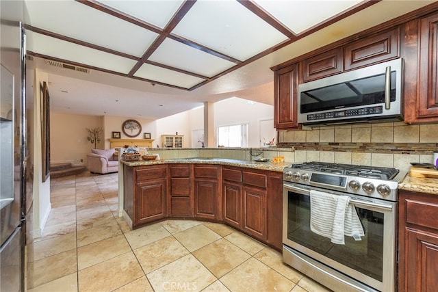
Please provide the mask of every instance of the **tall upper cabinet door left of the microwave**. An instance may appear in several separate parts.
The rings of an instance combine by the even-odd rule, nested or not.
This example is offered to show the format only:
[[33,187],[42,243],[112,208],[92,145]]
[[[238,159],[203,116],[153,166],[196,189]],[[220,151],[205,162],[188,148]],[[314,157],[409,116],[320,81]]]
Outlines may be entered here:
[[298,64],[274,72],[274,127],[300,129],[297,117]]

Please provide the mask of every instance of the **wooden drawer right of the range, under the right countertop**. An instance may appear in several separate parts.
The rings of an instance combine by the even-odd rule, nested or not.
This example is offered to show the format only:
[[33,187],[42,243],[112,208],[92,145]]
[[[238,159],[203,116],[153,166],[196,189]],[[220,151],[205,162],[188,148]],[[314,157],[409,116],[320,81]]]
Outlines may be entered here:
[[406,200],[406,222],[438,229],[438,204]]

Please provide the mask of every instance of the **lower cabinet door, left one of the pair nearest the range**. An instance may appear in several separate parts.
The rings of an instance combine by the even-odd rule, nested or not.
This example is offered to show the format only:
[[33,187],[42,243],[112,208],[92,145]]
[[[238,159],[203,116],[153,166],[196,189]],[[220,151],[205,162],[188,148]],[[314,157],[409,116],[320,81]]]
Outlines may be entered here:
[[224,184],[224,222],[231,226],[240,228],[241,205],[242,205],[242,186],[235,183],[225,182]]

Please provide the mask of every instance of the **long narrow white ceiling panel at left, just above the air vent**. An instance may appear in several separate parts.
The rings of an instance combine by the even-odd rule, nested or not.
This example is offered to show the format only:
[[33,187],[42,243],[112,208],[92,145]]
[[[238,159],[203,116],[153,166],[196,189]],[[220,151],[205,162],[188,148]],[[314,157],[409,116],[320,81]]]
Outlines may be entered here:
[[127,74],[136,61],[29,31],[34,53]]

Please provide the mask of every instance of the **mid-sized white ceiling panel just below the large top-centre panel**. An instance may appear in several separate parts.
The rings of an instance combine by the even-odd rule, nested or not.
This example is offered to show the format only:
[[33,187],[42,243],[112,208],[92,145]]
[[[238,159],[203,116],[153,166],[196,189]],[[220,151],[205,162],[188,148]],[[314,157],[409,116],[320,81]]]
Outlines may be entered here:
[[149,57],[149,60],[206,77],[213,77],[235,66],[233,62],[215,57],[170,38],[164,40],[151,57]]

